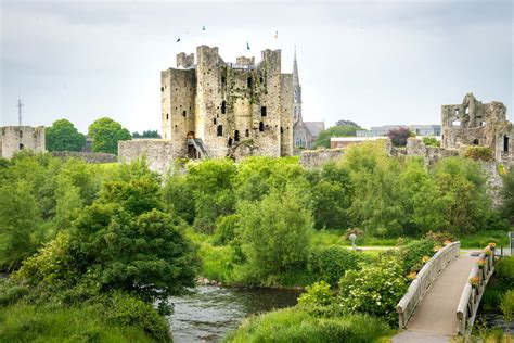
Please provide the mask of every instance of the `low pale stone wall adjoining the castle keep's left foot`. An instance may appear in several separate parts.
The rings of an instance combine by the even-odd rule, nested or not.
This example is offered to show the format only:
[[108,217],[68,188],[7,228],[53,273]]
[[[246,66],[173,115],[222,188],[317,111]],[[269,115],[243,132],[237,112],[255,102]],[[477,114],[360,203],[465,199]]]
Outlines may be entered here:
[[131,162],[146,158],[150,169],[159,174],[166,173],[177,158],[174,144],[164,139],[132,139],[118,142],[118,160]]

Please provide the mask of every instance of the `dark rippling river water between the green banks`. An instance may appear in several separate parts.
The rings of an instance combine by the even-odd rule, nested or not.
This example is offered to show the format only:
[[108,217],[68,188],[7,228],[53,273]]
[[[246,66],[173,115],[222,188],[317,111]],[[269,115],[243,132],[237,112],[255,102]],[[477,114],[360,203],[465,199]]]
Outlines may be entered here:
[[296,305],[298,291],[198,285],[171,297],[174,342],[219,342],[247,316]]

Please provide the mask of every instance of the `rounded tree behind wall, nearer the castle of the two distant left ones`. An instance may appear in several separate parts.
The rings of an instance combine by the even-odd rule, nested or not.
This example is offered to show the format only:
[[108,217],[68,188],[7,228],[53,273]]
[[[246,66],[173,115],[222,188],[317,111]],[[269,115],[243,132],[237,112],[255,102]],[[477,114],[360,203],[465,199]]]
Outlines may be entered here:
[[94,152],[118,153],[118,141],[130,140],[130,132],[111,118],[103,117],[94,120],[88,130],[88,136],[93,140]]

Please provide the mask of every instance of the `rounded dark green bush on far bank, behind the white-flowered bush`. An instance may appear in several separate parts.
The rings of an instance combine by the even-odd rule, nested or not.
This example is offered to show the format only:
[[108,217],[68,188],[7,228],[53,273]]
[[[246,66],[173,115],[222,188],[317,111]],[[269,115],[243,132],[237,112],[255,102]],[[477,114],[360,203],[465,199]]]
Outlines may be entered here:
[[346,270],[358,269],[360,256],[343,246],[330,246],[314,250],[309,258],[308,268],[317,280],[336,285]]

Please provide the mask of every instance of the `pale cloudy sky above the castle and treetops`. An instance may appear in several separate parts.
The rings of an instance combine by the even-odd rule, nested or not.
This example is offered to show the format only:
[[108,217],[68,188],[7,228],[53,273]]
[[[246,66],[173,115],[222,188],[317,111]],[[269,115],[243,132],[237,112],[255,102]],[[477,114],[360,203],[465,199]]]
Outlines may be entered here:
[[110,116],[160,130],[160,71],[203,43],[226,62],[281,49],[283,73],[296,47],[304,120],[325,126],[440,124],[440,105],[470,91],[513,120],[513,11],[510,0],[0,0],[0,125],[17,125],[23,99],[23,125],[67,118],[87,132]]

